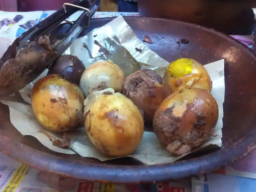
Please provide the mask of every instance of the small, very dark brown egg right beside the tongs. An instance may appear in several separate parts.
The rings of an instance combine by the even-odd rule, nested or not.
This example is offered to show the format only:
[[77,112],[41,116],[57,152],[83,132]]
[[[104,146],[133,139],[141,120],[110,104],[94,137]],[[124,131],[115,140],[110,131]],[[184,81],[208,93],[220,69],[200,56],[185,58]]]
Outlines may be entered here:
[[79,85],[84,70],[84,64],[76,56],[62,55],[50,66],[48,74],[60,74],[68,81]]

